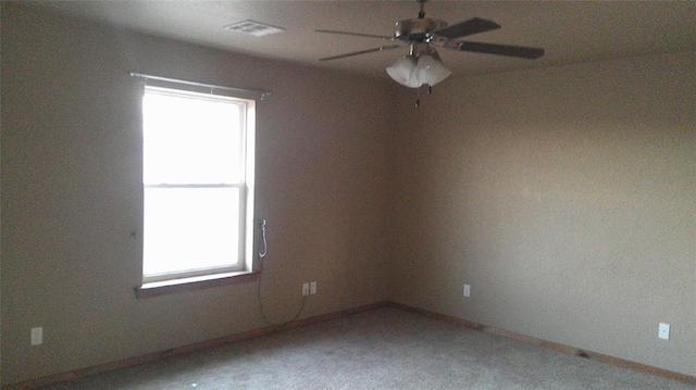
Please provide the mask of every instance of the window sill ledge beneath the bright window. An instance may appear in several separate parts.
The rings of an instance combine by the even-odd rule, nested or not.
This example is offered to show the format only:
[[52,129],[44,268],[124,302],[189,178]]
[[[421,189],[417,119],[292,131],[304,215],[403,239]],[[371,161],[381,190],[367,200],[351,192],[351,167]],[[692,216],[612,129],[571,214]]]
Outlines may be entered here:
[[137,299],[166,295],[184,291],[201,290],[219,286],[246,284],[257,281],[258,272],[226,273],[217,275],[198,276],[175,280],[144,284],[135,288]]

